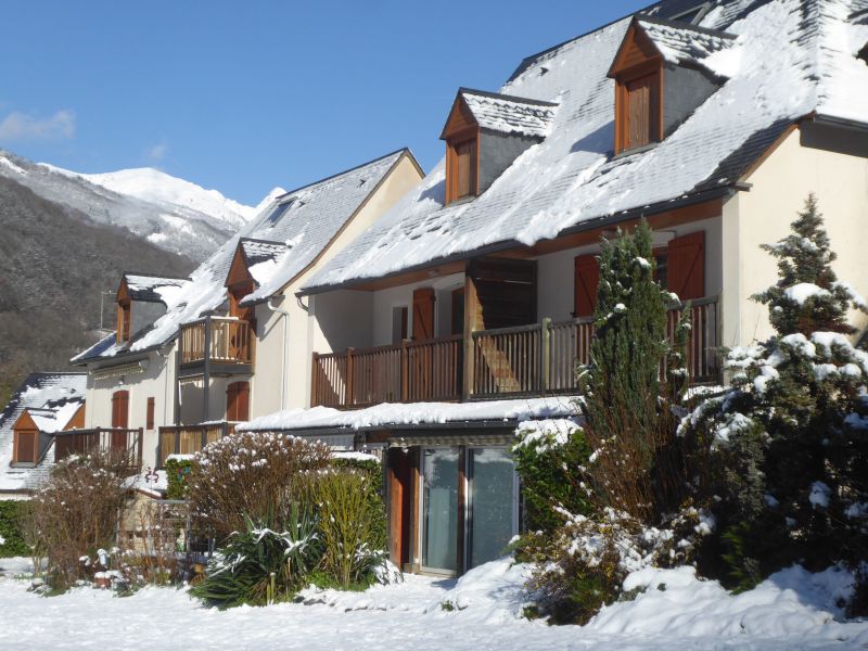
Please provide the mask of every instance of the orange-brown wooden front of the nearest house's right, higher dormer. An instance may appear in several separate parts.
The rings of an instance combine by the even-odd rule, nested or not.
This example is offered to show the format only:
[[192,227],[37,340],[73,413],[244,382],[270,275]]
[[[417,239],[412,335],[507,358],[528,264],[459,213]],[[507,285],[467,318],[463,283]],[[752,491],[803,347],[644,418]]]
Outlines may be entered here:
[[644,146],[663,135],[663,58],[634,23],[615,55],[615,153]]

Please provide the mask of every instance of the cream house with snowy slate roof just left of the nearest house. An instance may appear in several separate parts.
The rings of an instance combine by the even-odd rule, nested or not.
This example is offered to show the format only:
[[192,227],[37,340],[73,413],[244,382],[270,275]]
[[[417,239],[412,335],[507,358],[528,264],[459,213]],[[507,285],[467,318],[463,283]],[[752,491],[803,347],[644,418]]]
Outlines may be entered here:
[[87,369],[87,426],[141,429],[143,463],[162,467],[235,422],[305,406],[295,292],[421,178],[399,150],[277,197],[189,279],[125,273],[116,331],[73,359]]

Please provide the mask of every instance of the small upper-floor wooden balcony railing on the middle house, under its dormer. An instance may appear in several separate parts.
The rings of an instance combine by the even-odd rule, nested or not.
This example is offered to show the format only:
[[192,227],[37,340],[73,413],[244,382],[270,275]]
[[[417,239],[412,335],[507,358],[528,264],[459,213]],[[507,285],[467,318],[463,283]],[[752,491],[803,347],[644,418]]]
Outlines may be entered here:
[[[208,355],[206,356],[206,352]],[[181,326],[181,365],[253,363],[253,329],[247,321],[205,317]]]

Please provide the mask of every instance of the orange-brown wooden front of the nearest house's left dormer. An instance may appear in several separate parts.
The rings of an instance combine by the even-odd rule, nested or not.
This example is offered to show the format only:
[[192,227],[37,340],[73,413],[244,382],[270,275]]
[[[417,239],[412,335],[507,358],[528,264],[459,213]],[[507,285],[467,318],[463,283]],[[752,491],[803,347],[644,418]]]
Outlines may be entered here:
[[441,135],[446,141],[446,203],[478,194],[480,126],[457,97]]

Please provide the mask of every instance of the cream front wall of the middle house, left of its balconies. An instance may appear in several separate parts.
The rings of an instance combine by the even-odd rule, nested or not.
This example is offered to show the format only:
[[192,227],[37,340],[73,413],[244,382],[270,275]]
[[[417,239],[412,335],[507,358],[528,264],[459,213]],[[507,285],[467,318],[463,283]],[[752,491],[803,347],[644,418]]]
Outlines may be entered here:
[[[85,409],[86,427],[112,426],[112,395],[116,391],[129,392],[130,429],[142,427],[144,437],[142,442],[142,463],[151,465],[156,462],[157,429],[162,425],[173,424],[175,418],[175,352],[177,346],[170,343],[164,350],[149,353],[146,368],[137,373],[129,373],[123,378],[106,378],[98,380],[95,372],[108,370],[88,367],[87,403]],[[129,363],[126,360],[118,360]],[[154,429],[146,429],[148,398],[154,398]]]

